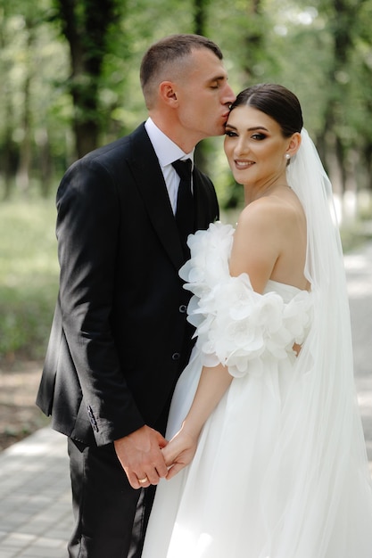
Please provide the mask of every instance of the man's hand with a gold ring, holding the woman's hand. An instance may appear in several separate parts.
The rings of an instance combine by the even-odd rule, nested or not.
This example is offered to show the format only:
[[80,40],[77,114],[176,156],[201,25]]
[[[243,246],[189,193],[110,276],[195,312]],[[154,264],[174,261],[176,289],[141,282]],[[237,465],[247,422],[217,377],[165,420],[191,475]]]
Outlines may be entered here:
[[158,484],[161,477],[167,476],[168,468],[161,453],[167,443],[160,432],[149,426],[114,441],[116,455],[132,488]]

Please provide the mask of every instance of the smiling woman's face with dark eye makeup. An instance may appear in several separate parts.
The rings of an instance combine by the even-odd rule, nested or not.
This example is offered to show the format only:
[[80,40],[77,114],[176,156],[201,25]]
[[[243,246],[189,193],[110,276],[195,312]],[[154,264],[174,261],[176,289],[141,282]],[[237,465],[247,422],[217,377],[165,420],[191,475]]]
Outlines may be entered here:
[[260,187],[285,181],[290,144],[291,138],[264,112],[242,105],[228,116],[224,147],[238,184]]

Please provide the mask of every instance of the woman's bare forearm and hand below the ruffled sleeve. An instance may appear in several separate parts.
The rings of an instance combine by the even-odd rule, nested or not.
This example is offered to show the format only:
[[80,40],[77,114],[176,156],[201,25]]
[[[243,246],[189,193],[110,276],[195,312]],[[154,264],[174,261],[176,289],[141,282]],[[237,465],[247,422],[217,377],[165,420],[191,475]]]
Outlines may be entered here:
[[203,424],[218,405],[232,379],[223,365],[203,367],[193,405],[181,429],[168,446],[162,449],[165,463],[169,467],[168,480],[192,461]]

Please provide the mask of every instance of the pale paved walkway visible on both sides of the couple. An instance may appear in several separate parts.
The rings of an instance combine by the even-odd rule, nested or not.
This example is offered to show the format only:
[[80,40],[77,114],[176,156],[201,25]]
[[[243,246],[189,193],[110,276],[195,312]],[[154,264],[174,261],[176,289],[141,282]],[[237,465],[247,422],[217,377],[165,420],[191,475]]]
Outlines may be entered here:
[[[345,265],[355,377],[372,464],[372,242],[346,256]],[[66,557],[72,522],[68,471],[66,439],[48,428],[0,454],[0,558]]]

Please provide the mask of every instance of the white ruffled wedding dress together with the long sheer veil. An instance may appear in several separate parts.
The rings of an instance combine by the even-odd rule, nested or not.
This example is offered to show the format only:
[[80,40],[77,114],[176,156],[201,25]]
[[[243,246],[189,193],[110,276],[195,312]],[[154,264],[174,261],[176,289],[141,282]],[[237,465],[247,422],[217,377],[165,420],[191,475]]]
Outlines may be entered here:
[[[372,488],[355,394],[332,187],[306,130],[287,167],[305,211],[310,292],[229,275],[232,226],[189,236],[197,340],[172,399],[179,429],[203,365],[234,377],[194,460],[161,480],[142,558],[372,558]],[[293,343],[302,345],[298,355]]]

